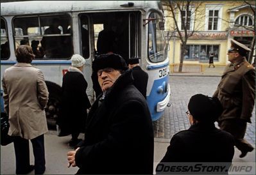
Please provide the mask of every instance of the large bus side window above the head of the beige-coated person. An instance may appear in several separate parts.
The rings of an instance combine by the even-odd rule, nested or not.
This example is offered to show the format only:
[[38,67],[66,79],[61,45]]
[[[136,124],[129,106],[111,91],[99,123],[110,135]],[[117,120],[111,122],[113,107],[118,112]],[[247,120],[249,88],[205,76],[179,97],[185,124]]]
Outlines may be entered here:
[[16,17],[13,26],[15,48],[30,45],[35,59],[69,59],[73,55],[69,15]]

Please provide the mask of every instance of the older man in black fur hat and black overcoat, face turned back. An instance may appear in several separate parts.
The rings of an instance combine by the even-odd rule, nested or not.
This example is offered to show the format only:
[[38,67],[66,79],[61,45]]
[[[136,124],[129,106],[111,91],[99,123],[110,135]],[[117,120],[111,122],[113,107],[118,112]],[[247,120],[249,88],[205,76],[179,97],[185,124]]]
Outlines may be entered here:
[[67,153],[69,164],[77,174],[153,174],[151,116],[132,71],[117,54],[95,61],[103,93],[90,109],[84,141]]

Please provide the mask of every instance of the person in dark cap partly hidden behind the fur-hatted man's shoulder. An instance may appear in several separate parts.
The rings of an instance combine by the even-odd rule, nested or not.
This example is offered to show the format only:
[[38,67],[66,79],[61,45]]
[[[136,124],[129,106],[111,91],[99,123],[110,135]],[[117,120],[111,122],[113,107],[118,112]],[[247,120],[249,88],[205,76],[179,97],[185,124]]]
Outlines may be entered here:
[[137,88],[141,94],[146,98],[147,85],[148,85],[148,73],[144,72],[139,66],[139,57],[132,57],[128,59],[128,66],[132,69],[133,85]]

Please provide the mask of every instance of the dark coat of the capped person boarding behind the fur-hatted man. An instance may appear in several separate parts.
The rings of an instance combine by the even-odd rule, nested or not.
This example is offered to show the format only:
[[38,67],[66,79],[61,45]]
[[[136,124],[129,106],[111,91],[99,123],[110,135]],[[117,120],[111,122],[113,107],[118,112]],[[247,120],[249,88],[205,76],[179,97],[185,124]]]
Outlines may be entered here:
[[144,72],[140,66],[132,68],[133,85],[137,88],[141,94],[146,98],[147,85],[148,85],[148,73]]

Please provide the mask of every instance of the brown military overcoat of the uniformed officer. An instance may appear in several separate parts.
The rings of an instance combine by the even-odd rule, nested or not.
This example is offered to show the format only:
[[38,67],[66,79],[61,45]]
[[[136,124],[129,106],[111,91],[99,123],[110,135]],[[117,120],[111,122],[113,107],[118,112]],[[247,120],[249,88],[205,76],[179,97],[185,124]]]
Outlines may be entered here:
[[252,110],[255,103],[255,69],[244,58],[235,65],[226,66],[213,96],[219,98],[223,113],[219,121],[224,119],[243,119],[251,123]]

